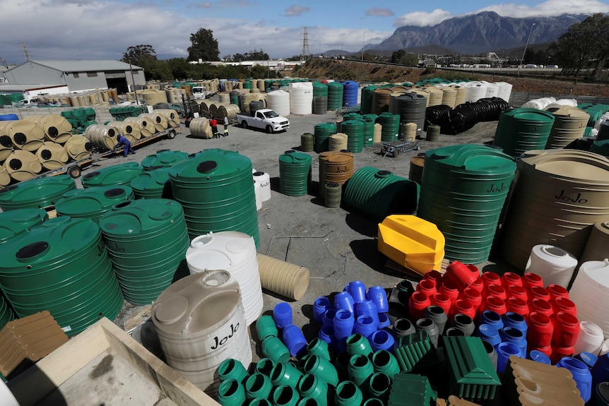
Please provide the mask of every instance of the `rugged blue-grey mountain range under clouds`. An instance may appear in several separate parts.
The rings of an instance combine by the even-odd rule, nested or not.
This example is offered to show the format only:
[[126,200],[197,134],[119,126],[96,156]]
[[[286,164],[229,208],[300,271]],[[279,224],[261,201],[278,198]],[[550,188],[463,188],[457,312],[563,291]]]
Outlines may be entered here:
[[[522,47],[531,35],[530,44],[557,40],[569,26],[581,23],[586,14],[562,14],[555,17],[502,17],[494,11],[454,17],[427,27],[404,25],[379,44],[367,44],[364,50],[396,51],[437,45],[455,54],[480,54],[500,49]],[[535,24],[535,25],[533,25]]]

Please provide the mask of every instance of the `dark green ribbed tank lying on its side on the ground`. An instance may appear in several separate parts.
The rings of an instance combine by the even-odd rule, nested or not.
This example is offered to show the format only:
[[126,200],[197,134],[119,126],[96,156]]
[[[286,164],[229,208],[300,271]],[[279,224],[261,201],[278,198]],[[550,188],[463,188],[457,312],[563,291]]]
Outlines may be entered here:
[[413,214],[417,210],[419,186],[386,170],[362,167],[343,188],[343,203],[373,220],[390,214]]

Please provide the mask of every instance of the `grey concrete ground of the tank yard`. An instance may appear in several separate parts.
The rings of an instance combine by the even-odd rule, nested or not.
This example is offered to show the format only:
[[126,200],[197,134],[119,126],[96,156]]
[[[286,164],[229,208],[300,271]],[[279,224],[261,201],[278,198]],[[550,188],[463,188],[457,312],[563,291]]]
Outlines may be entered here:
[[[216,139],[200,139],[190,136],[189,129],[182,129],[175,139],[161,139],[158,142],[138,148],[136,155],[119,155],[100,160],[83,171],[83,175],[95,169],[117,165],[126,161],[141,162],[147,155],[158,150],[171,149],[196,153],[208,148],[235,150],[249,157],[255,169],[268,173],[271,177],[271,200],[263,203],[258,212],[260,247],[259,253],[278,258],[289,263],[304,266],[310,271],[309,287],[305,297],[290,301],[273,292],[264,292],[264,313],[272,314],[273,307],[280,301],[288,301],[292,306],[294,323],[302,327],[310,340],[317,336],[318,326],[312,322],[312,303],[319,296],[340,292],[350,281],[362,280],[367,287],[381,285],[395,287],[400,280],[410,277],[405,273],[386,268],[386,257],[377,251],[377,223],[343,208],[326,208],[317,197],[319,179],[319,159],[312,155],[312,188],[306,196],[285,196],[278,191],[278,157],[285,150],[300,147],[302,133],[313,133],[316,124],[336,121],[335,112],[325,115],[290,115],[290,129],[283,133],[267,134],[263,131],[230,126],[229,136]],[[386,169],[401,177],[408,177],[410,157],[418,153],[446,145],[463,143],[486,143],[495,135],[497,121],[476,124],[473,129],[456,136],[441,135],[437,142],[420,140],[421,150],[412,150],[398,157],[383,157],[380,145],[365,148],[355,154],[354,170],[365,166]],[[219,126],[220,129],[222,128]],[[480,264],[484,270],[502,272],[509,269],[500,260]],[[508,268],[506,268],[508,267]],[[412,277],[410,277],[412,279]],[[416,280],[416,279],[413,279]],[[141,307],[125,304],[122,313],[114,321],[124,327],[124,322],[138,314]],[[144,312],[146,315],[146,312]],[[139,317],[139,316],[138,316]],[[131,320],[132,322],[133,320]],[[253,327],[254,325],[252,325]],[[256,342],[252,328],[252,350],[254,362],[261,357],[260,346]]]

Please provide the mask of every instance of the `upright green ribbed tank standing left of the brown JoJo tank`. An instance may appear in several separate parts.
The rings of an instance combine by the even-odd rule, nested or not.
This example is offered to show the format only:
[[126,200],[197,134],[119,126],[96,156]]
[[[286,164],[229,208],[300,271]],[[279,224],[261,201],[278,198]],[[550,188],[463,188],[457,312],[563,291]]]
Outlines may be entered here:
[[279,190],[287,196],[304,196],[311,183],[311,155],[287,150],[279,155]]

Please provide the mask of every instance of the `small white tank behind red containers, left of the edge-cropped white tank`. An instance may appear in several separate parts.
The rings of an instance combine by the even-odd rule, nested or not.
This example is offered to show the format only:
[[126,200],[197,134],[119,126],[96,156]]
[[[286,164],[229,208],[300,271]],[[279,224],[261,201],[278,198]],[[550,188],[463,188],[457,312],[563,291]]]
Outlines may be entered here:
[[526,272],[536,273],[543,279],[543,285],[569,286],[577,258],[557,246],[538,244],[531,249],[526,263]]

